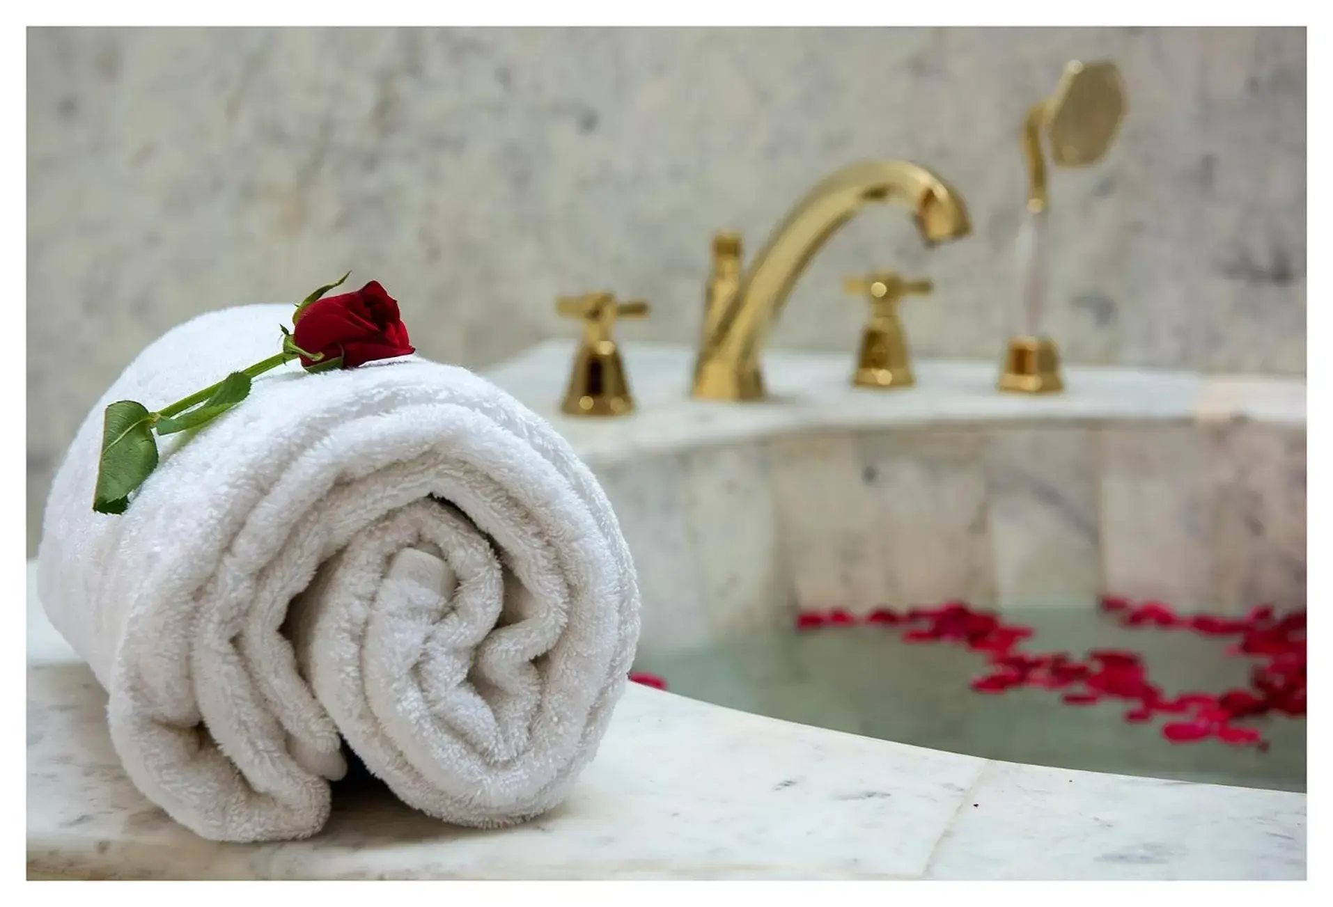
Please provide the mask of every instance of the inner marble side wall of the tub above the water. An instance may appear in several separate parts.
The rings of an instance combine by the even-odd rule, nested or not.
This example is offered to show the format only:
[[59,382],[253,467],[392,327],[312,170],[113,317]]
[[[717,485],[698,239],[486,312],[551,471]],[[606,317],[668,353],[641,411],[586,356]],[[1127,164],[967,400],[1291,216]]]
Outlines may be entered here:
[[640,651],[797,610],[1305,607],[1305,428],[1257,421],[798,432],[595,466],[640,569]]

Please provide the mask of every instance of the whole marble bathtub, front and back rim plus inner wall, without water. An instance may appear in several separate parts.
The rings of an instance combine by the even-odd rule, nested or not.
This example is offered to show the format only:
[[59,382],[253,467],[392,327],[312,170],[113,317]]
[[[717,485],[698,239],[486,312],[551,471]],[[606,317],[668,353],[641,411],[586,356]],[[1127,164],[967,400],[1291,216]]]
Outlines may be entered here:
[[[846,357],[777,352],[774,400],[717,405],[686,398],[685,348],[631,345],[640,412],[592,421],[556,412],[572,353],[488,377],[605,483],[643,651],[804,606],[1304,603],[1304,382],[1069,369],[1068,394],[1025,398],[993,392],[990,364],[921,362],[917,389],[881,394],[846,385]],[[31,586],[29,878],[1305,876],[1304,794],[996,762],[633,685],[573,796],[527,826],[449,828],[357,783],[315,839],[204,842],[120,771],[105,697]]]

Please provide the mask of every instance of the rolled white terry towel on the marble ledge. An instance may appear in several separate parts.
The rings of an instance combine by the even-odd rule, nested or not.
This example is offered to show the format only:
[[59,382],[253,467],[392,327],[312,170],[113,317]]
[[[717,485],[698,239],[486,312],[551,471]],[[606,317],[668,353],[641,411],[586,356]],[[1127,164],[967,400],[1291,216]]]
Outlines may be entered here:
[[499,388],[417,356],[291,364],[159,440],[124,514],[93,513],[105,405],[160,409],[257,362],[291,314],[225,309],[159,338],[52,485],[39,593],[109,694],[125,771],[217,840],[319,831],[340,738],[447,822],[549,810],[624,690],[639,590],[592,473]]

